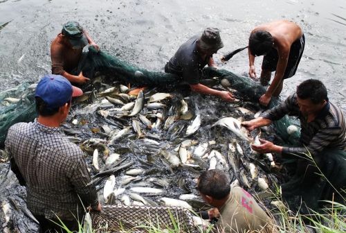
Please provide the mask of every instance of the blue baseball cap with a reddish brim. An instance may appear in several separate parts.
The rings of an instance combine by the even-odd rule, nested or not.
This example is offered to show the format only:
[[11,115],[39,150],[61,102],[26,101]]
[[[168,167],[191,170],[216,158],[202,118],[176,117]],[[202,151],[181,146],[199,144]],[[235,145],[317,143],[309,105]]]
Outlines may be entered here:
[[82,96],[80,88],[60,75],[46,74],[37,84],[35,97],[42,98],[49,108],[62,107],[72,97]]

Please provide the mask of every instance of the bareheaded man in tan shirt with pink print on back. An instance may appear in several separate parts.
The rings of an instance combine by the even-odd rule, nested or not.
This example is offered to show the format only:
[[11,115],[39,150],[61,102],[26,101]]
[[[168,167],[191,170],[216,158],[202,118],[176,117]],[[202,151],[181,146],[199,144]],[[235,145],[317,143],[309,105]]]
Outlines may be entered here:
[[241,187],[231,188],[223,171],[212,169],[201,173],[197,189],[203,200],[216,208],[208,214],[210,218],[219,218],[215,225],[217,232],[274,232],[273,221],[251,194]]

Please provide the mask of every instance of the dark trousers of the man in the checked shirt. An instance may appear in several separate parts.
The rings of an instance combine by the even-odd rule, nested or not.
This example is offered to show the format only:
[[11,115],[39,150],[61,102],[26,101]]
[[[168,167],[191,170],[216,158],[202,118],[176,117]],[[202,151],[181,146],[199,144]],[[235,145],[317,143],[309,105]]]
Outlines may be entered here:
[[[71,232],[78,232],[78,221],[66,221],[61,220],[62,223],[58,219],[47,219],[42,215],[34,215],[37,221],[39,221],[39,233],[55,233],[55,232],[66,232],[64,228],[60,227],[62,223],[66,225],[67,229]],[[54,222],[54,223],[53,223]],[[82,224],[82,223],[81,223]]]

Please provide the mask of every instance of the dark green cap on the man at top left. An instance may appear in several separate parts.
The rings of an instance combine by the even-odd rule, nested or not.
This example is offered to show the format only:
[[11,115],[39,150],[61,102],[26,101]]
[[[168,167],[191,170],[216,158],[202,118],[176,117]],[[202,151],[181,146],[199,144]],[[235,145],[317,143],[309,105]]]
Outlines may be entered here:
[[80,26],[76,21],[68,21],[64,24],[62,27],[62,35],[69,39],[73,49],[82,49],[86,44],[88,44],[82,26]]

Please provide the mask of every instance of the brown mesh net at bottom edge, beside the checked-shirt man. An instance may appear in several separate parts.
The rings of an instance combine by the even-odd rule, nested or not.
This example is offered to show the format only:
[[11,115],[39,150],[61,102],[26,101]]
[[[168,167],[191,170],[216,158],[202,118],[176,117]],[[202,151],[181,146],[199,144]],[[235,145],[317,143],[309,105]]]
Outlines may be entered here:
[[181,207],[107,205],[91,219],[95,232],[197,232],[192,214]]

